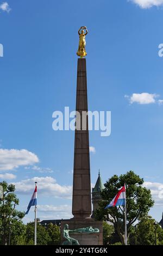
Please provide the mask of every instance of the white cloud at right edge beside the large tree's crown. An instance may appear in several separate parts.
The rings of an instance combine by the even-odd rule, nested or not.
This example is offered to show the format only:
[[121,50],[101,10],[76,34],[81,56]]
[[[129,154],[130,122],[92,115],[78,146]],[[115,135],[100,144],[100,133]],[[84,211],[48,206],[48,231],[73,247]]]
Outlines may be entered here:
[[159,182],[146,181],[143,186],[151,190],[155,205],[163,205],[163,184]]

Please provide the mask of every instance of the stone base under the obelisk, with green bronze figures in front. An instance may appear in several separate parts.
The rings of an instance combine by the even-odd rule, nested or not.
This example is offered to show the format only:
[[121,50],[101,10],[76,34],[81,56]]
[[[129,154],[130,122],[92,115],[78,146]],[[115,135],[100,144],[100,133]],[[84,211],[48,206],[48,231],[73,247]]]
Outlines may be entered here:
[[70,237],[78,240],[79,245],[103,245],[103,222],[102,221],[95,221],[92,218],[85,218],[83,220],[77,220],[72,218],[68,221],[61,221],[61,244],[64,240],[62,237],[62,230],[64,229],[64,225],[68,224],[69,229],[78,229],[78,228],[98,228],[99,232],[97,233],[77,233],[77,232],[70,232]]

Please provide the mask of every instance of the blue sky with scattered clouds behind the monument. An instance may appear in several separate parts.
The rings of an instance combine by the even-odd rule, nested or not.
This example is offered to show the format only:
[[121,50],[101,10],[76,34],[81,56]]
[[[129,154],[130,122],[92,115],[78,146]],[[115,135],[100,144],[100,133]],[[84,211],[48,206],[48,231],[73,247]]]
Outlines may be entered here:
[[[52,113],[75,108],[78,29],[87,26],[89,109],[111,111],[111,136],[90,131],[96,150],[90,154],[91,182],[98,168],[103,182],[134,170],[151,188],[156,204],[150,214],[160,221],[163,1],[3,3],[0,179],[15,183],[19,209],[26,210],[37,180],[38,217],[71,216],[74,132],[53,131]],[[24,222],[33,217],[31,210]]]

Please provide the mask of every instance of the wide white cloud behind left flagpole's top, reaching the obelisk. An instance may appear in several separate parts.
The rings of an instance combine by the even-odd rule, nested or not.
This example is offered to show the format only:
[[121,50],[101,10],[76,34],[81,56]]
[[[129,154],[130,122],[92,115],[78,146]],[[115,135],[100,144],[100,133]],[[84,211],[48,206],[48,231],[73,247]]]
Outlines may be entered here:
[[31,194],[34,190],[34,182],[37,181],[38,193],[45,196],[57,198],[72,198],[72,186],[59,185],[51,176],[34,177],[32,179],[21,180],[13,183],[16,193]]

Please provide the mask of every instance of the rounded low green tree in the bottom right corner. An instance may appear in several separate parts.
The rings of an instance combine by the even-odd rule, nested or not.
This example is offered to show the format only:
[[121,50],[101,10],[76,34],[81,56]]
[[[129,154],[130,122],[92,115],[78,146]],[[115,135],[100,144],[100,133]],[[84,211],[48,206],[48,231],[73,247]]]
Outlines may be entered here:
[[[156,233],[155,233],[156,230]],[[163,245],[163,230],[151,216],[143,217],[130,233],[130,245]]]

